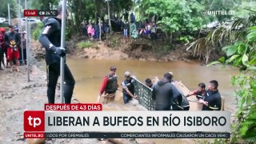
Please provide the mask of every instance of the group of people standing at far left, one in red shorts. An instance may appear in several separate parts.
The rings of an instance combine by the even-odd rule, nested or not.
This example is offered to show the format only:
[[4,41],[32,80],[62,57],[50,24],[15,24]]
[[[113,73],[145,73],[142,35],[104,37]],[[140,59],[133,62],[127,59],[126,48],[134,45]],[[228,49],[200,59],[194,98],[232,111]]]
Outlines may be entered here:
[[[18,26],[10,25],[8,32],[4,28],[0,28],[0,70],[3,70],[3,64],[6,68],[10,68],[10,71],[19,71],[22,38],[24,38],[24,33],[18,33]],[[4,62],[4,54],[6,54],[6,64]],[[13,64],[15,67],[13,67]]]

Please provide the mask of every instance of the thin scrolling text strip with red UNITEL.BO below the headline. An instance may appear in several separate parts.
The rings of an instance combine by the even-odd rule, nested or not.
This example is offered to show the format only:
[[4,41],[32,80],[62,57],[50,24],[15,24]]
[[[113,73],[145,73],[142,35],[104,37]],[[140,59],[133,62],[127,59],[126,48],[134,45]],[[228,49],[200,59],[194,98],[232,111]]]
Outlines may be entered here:
[[154,133],[24,133],[24,138],[230,138],[230,133],[154,132]]

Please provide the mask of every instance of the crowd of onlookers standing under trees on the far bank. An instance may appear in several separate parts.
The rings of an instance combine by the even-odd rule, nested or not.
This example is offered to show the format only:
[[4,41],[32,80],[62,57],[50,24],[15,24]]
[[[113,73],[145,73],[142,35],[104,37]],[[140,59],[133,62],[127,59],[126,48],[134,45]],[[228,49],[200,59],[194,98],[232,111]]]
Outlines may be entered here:
[[[130,19],[129,19],[130,18]],[[146,20],[141,22],[136,22],[135,16],[133,13],[129,14],[126,12],[121,17],[114,16],[110,18],[110,23],[112,30],[115,32],[121,32],[123,38],[128,38],[131,34],[131,38],[157,38],[157,26],[155,24],[156,20]],[[90,39],[98,39],[100,31],[103,34],[108,34],[110,30],[110,25],[108,20],[103,20],[99,26],[98,22],[82,22],[81,25],[82,33],[85,36],[88,36]]]

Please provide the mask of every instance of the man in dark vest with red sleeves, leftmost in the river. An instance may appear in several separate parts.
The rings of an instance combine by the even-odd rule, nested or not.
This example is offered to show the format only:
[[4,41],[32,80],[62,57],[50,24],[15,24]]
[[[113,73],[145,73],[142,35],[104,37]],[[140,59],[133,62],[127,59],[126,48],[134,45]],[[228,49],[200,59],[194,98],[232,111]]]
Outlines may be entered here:
[[103,79],[102,87],[99,92],[100,96],[102,96],[104,92],[105,94],[115,94],[118,90],[118,76],[116,74],[116,70],[117,68],[115,66],[110,67],[110,73],[106,74]]

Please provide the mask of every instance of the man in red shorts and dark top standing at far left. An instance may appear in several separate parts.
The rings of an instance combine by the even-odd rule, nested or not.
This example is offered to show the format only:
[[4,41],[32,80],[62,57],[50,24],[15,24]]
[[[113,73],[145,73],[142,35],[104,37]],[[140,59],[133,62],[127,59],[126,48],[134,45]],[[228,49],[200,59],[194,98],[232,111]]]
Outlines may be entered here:
[[[16,70],[18,70],[19,65],[19,48],[21,45],[21,37],[20,35],[14,30],[14,26],[9,26],[9,32],[5,35],[5,44],[7,46],[7,65],[10,63],[10,67],[12,67],[13,60],[15,60]],[[12,71],[12,69],[10,70]]]

